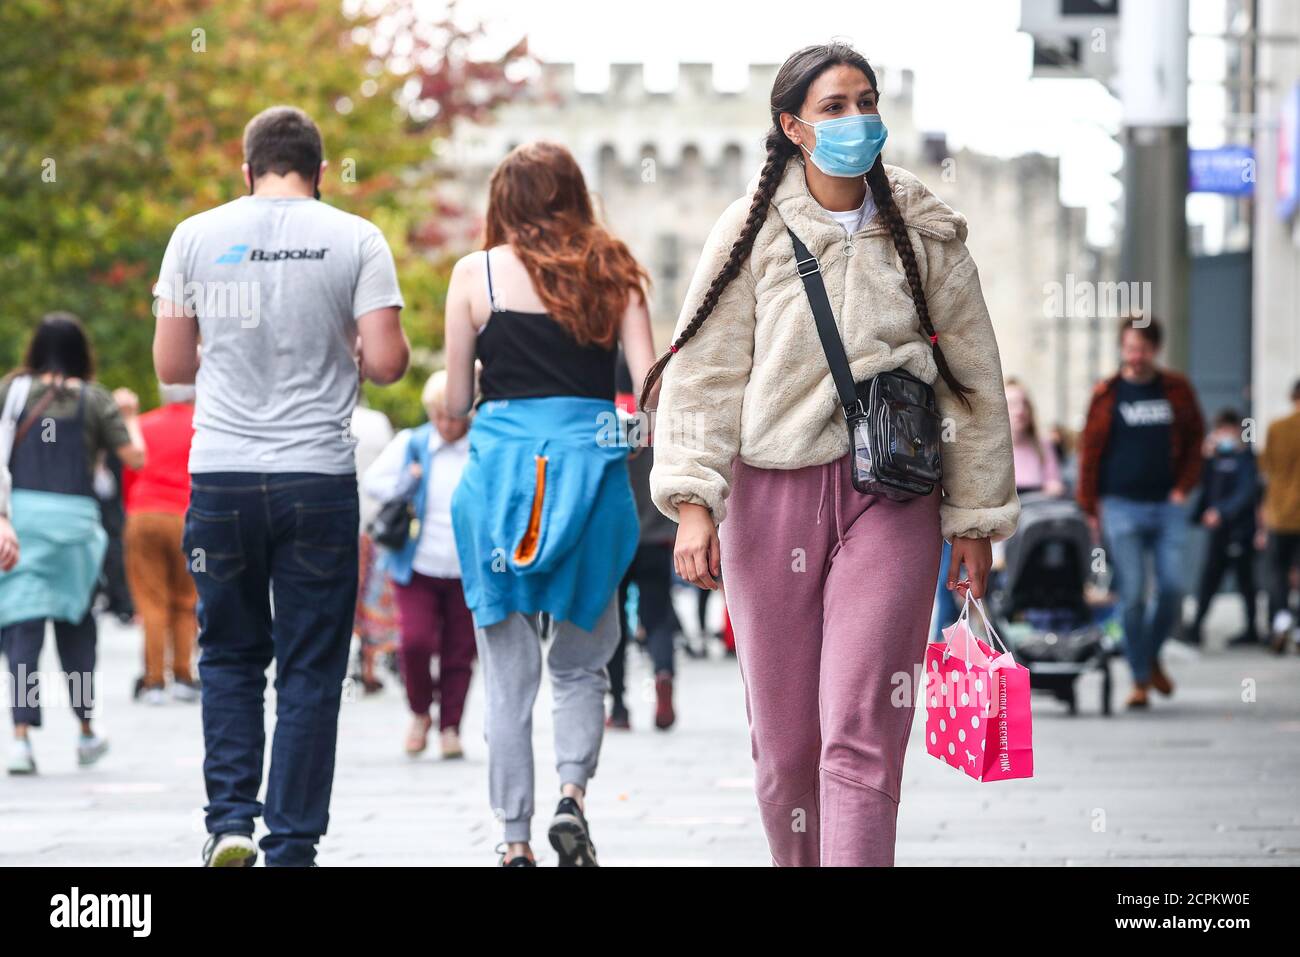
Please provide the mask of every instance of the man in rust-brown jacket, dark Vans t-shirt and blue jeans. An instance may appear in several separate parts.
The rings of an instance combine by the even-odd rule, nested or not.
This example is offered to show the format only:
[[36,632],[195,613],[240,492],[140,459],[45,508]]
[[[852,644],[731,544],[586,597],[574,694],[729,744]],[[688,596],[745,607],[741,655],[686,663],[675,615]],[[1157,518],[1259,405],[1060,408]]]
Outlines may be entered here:
[[[1161,326],[1134,317],[1119,330],[1121,367],[1097,385],[1079,447],[1079,506],[1104,534],[1119,581],[1124,655],[1134,674],[1128,707],[1150,688],[1173,694],[1160,646],[1182,607],[1187,495],[1201,472],[1205,423],[1191,384],[1156,365]],[[1147,558],[1156,605],[1147,607]]]

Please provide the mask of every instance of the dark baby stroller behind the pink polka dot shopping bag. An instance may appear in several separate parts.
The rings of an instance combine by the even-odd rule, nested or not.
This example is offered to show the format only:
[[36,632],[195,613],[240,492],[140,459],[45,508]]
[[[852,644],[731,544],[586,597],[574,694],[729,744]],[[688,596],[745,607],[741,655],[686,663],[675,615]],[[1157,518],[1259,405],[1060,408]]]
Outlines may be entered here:
[[1030,670],[1030,687],[1078,714],[1075,683],[1101,671],[1101,713],[1110,714],[1110,658],[1118,642],[1088,605],[1092,536],[1074,502],[1026,494],[1006,541],[1006,567],[992,607],[998,628]]

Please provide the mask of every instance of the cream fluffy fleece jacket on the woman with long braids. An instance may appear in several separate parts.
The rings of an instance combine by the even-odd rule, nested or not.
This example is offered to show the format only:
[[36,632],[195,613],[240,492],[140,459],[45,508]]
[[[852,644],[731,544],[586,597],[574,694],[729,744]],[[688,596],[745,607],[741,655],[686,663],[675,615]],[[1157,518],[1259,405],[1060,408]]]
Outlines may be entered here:
[[[945,538],[1006,538],[1019,499],[997,341],[966,218],[911,173],[885,166],[916,252],[931,321],[948,365],[974,389],[967,410],[939,378],[902,264],[876,213],[853,237],[809,192],[792,159],[740,276],[696,335],[668,361],[655,417],[654,503],[672,519],[680,502],[727,515],[732,459],[758,468],[802,468],[849,451],[844,415],[794,268],[786,224],[822,264],[854,380],[898,367],[935,386],[944,417]],[[686,293],[677,332],[690,321],[749,213],[758,177],[714,226]]]

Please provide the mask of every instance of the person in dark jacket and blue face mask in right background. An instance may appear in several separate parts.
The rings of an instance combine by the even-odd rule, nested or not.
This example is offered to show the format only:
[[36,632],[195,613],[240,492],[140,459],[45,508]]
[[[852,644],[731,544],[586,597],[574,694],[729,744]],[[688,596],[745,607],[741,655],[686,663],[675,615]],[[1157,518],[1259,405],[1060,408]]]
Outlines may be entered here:
[[1245,631],[1231,644],[1254,645],[1260,640],[1254,610],[1254,506],[1258,495],[1260,473],[1254,452],[1242,442],[1242,415],[1226,408],[1214,419],[1214,430],[1206,439],[1204,481],[1192,512],[1192,519],[1209,531],[1209,542],[1196,620],[1187,636],[1190,644],[1201,644],[1201,625],[1230,567],[1245,601]]

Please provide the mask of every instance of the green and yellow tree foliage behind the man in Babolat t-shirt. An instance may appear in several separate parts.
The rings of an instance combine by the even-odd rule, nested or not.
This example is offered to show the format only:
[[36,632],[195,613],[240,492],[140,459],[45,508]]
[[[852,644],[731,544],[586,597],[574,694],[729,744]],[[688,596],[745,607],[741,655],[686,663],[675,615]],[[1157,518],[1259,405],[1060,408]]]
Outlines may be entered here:
[[[291,103],[320,124],[322,198],[387,237],[416,361],[368,390],[402,424],[442,347],[450,257],[432,148],[517,95],[523,43],[469,56],[477,27],[411,0],[0,3],[0,367],[35,320],[86,321],[100,378],[155,397],[151,290],[172,229],[244,191],[240,135]],[[354,10],[352,8],[358,8]]]

